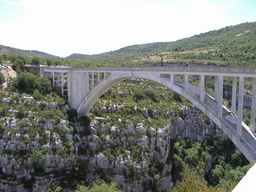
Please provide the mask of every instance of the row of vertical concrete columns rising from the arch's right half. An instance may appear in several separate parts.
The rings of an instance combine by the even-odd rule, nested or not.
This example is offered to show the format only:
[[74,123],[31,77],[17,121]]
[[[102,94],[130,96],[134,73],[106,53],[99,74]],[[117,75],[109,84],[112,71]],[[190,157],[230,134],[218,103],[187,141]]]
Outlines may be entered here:
[[[178,74],[177,74],[178,75]],[[164,75],[163,75],[164,76]],[[184,75],[184,89],[189,91],[189,75]],[[215,76],[214,81],[214,100],[218,103],[217,114],[222,117],[222,103],[223,103],[223,78],[224,76]],[[175,74],[170,75],[170,81],[175,83]],[[244,77],[239,77],[239,93],[238,93],[238,112],[236,114],[236,83],[237,77],[232,77],[232,102],[231,113],[237,118],[236,132],[241,136],[242,134],[242,115],[243,115],[243,101],[244,101]],[[205,76],[199,75],[200,101],[204,102],[206,93],[205,90]],[[251,115],[250,115],[250,130],[254,133],[256,116],[256,78],[253,78],[253,91],[251,95]]]

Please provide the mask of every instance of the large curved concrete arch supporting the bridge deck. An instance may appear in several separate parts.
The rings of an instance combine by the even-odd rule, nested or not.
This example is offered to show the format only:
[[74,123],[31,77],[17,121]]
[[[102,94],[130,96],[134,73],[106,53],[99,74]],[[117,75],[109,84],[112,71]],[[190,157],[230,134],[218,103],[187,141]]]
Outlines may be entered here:
[[[242,135],[239,136],[236,133],[237,119],[226,108],[222,108],[223,115],[219,117],[217,114],[218,103],[210,96],[205,96],[205,102],[200,101],[200,90],[194,85],[189,84],[189,91],[186,91],[184,83],[174,82],[172,83],[168,78],[162,78],[156,75],[143,73],[143,72],[129,72],[129,73],[117,73],[103,79],[99,84],[93,87],[84,96],[78,107],[76,108],[81,115],[87,115],[97,101],[97,99],[110,87],[128,78],[144,78],[151,81],[155,81],[162,84],[184,98],[193,103],[203,113],[205,113],[221,130],[232,140],[232,142],[238,147],[238,149],[245,155],[245,157],[251,162],[256,160],[256,135],[250,131],[250,128],[242,123]],[[178,79],[177,79],[178,80]],[[180,79],[179,79],[180,80]]]

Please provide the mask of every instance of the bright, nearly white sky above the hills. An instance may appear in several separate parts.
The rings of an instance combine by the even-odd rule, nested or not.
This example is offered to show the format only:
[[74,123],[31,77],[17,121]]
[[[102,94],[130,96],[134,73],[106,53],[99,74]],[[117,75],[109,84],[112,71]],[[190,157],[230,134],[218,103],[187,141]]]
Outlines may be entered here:
[[256,0],[0,0],[0,44],[66,57],[256,21]]

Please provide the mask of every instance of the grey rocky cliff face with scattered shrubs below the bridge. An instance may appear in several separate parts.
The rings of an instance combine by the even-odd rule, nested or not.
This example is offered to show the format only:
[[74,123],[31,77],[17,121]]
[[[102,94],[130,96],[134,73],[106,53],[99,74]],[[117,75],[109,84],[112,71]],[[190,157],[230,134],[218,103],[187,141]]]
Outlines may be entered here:
[[[111,113],[122,106],[115,107],[94,111]],[[173,187],[172,165],[167,159],[172,138],[225,137],[197,108],[179,107],[179,111],[179,116],[173,111],[153,111],[152,115],[164,113],[172,122],[161,128],[146,126],[145,120],[116,126],[110,117],[94,117],[88,126],[64,119],[4,117],[0,119],[0,190],[44,191],[57,183],[69,191],[103,178],[127,192],[153,191],[154,187],[169,191]],[[143,112],[148,113],[146,109]],[[46,154],[39,169],[30,155],[33,150]],[[152,171],[153,166],[157,172]]]

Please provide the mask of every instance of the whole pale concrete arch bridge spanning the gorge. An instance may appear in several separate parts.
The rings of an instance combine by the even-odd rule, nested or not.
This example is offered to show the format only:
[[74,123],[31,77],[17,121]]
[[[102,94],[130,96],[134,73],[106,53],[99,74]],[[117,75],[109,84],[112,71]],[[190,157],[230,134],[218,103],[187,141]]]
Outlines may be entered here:
[[[67,93],[69,105],[79,115],[87,115],[97,99],[128,78],[145,78],[162,84],[198,107],[232,140],[251,162],[256,160],[256,68],[246,67],[36,67],[26,66],[38,75],[52,79],[53,87]],[[184,80],[175,75],[184,75]],[[189,75],[199,75],[199,88],[189,84]],[[215,76],[214,98],[205,93],[205,76]],[[223,77],[233,78],[231,111],[222,105]],[[236,82],[239,78],[236,113]],[[250,127],[242,122],[244,78],[253,78]]]

